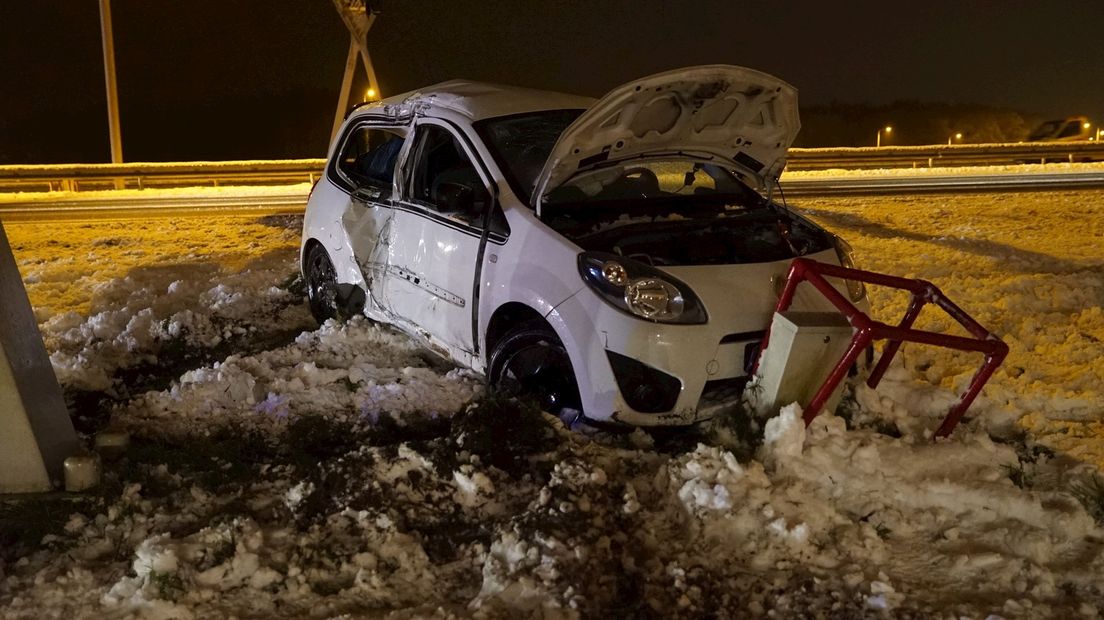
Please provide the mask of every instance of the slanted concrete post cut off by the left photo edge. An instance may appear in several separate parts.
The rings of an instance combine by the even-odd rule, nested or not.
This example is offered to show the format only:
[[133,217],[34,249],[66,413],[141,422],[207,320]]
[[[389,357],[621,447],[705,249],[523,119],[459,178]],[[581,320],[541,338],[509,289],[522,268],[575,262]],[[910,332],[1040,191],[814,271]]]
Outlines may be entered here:
[[49,491],[81,449],[0,224],[0,493]]

